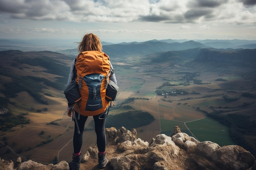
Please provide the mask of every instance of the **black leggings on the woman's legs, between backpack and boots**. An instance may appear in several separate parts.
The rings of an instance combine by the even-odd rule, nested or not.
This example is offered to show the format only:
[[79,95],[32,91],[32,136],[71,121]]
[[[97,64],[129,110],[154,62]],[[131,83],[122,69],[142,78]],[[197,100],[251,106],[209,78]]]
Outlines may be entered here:
[[[106,135],[105,135],[105,122],[106,117],[108,116],[109,107],[106,111],[100,115],[93,116],[94,125],[95,125],[95,132],[97,135],[97,146],[99,152],[104,152],[106,150]],[[78,113],[75,112],[76,118],[78,117]],[[80,134],[78,134],[78,130],[75,124],[74,129],[74,137],[73,137],[73,147],[74,153],[79,153],[81,151],[81,147],[83,144],[83,130],[85,126],[85,121],[87,120],[88,116],[80,115],[80,119],[77,120]]]

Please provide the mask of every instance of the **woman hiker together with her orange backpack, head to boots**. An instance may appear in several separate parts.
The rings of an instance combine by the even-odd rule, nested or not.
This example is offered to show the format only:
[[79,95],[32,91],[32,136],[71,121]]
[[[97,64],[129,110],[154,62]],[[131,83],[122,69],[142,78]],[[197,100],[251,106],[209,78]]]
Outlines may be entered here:
[[[108,158],[106,157],[105,122],[110,102],[105,100],[105,96],[101,97],[101,95],[104,92],[106,95],[104,84],[107,84],[108,79],[115,82],[115,84],[117,84],[117,80],[112,64],[109,61],[109,57],[102,52],[101,41],[96,35],[93,33],[84,35],[83,40],[79,43],[78,51],[80,54],[72,62],[67,83],[68,85],[70,82],[76,81],[76,83],[79,84],[79,91],[81,94],[81,102],[79,102],[78,105],[70,106],[70,104],[68,104],[67,107],[67,115],[77,118],[75,119],[77,122],[75,121],[73,137],[74,153],[72,155],[72,161],[69,163],[69,167],[70,170],[79,170],[80,168],[85,121],[88,116],[93,116],[99,150],[99,168],[102,169],[105,168],[108,163]],[[92,79],[98,81],[98,87],[89,87],[88,84],[90,84]],[[101,85],[101,83],[103,85]],[[99,88],[98,90],[100,94],[99,92],[96,92],[97,88]],[[90,93],[90,90],[92,93]],[[93,97],[93,102],[96,101],[99,102],[99,104],[94,104],[92,101],[88,104],[90,102],[90,97]]]

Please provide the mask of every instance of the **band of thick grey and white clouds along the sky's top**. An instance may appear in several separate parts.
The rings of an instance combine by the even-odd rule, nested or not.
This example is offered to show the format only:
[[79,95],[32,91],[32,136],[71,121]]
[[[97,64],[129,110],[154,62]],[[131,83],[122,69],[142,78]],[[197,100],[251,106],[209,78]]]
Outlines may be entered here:
[[29,20],[181,24],[256,22],[256,11],[248,11],[245,7],[255,5],[255,0],[0,0],[0,4],[0,13]]

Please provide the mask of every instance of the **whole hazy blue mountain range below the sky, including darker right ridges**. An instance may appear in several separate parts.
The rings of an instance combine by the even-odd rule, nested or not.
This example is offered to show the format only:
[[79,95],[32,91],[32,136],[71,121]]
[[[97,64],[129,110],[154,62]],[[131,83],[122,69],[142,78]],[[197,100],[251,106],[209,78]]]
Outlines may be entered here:
[[[65,55],[78,55],[75,40],[5,40],[0,39],[0,51],[40,51],[49,50]],[[150,56],[151,62],[171,59],[175,64],[184,60],[255,62],[256,40],[150,40],[145,42],[122,42],[113,44],[102,42],[103,51],[112,60],[131,56]]]

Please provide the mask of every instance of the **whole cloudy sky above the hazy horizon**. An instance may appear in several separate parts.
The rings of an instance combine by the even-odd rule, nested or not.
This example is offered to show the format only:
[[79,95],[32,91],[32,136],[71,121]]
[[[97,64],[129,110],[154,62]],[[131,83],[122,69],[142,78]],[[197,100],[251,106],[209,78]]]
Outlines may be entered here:
[[256,0],[0,0],[0,39],[256,40]]

